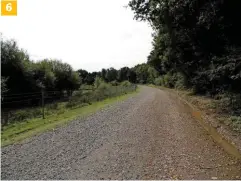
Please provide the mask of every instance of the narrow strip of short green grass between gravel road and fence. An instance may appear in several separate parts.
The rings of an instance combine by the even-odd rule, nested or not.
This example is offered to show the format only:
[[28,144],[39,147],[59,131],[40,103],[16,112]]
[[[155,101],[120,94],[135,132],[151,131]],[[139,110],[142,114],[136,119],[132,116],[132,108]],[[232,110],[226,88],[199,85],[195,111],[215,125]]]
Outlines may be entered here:
[[1,146],[17,143],[31,136],[40,134],[44,131],[54,129],[58,126],[64,125],[76,118],[82,118],[88,116],[107,105],[113,104],[118,101],[122,101],[130,97],[131,95],[139,92],[137,91],[128,93],[122,96],[108,98],[100,102],[94,102],[91,105],[71,109],[63,110],[61,114],[54,114],[47,116],[46,119],[35,118],[29,119],[24,122],[16,122],[2,128],[1,133]]

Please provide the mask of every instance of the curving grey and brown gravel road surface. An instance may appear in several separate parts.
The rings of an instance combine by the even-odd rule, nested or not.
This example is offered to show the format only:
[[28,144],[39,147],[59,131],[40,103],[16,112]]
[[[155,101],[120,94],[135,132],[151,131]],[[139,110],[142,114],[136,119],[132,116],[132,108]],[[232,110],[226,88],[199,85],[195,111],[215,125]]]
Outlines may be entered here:
[[184,105],[142,87],[131,98],[2,148],[2,179],[241,179]]

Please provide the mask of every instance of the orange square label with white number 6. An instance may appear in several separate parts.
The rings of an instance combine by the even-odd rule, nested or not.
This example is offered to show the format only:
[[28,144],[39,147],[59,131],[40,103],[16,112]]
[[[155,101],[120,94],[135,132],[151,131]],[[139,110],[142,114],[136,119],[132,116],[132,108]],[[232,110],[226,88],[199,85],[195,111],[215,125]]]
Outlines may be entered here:
[[17,16],[17,0],[2,0],[1,1],[2,16]]

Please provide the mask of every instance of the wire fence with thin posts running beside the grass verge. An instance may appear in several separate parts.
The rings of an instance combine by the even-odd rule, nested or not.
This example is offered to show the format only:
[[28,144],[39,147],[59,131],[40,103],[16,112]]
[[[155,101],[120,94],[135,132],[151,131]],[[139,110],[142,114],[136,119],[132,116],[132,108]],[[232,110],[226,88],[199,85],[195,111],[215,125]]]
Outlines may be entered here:
[[[128,87],[111,86],[107,89],[82,88],[78,91],[41,91],[22,94],[3,94],[1,97],[1,124],[29,118],[45,118],[46,115],[78,107],[82,104],[125,94],[136,90],[136,85]],[[64,103],[58,110],[59,103]]]

